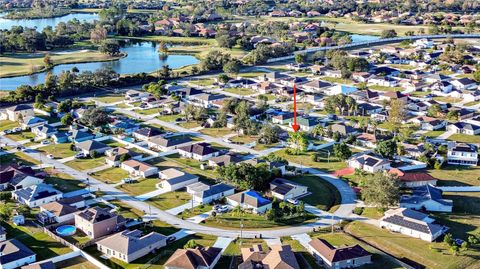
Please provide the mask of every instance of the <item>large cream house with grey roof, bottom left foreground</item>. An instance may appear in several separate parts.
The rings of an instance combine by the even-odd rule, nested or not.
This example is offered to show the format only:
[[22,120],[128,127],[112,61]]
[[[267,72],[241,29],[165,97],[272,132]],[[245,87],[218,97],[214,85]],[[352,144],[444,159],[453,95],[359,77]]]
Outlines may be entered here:
[[125,230],[108,236],[96,244],[98,251],[107,257],[130,263],[166,246],[167,237],[156,232],[144,235],[140,230]]

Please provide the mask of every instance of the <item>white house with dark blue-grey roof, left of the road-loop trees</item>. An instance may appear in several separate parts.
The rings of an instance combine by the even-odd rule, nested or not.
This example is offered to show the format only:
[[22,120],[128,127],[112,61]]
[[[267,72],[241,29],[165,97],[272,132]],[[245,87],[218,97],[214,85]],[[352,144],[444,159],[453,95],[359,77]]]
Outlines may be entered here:
[[235,188],[224,183],[209,186],[205,183],[198,182],[188,185],[187,192],[192,195],[195,203],[208,204],[213,201],[218,201],[223,197],[233,195]]

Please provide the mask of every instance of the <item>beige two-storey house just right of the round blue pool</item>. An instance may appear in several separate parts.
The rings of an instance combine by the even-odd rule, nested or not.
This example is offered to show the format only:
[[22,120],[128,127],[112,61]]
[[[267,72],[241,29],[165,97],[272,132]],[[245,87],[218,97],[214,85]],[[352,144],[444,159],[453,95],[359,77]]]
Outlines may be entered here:
[[125,226],[125,219],[106,208],[92,207],[75,214],[75,227],[95,239],[109,235]]

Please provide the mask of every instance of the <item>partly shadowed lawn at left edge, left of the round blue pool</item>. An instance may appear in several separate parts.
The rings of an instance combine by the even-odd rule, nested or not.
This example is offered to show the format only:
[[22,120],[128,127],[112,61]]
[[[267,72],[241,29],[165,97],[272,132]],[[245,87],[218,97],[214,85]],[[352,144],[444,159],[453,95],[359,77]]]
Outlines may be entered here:
[[6,229],[7,239],[15,238],[37,254],[37,260],[50,259],[72,250],[43,233],[43,229],[33,226],[15,226],[2,222]]

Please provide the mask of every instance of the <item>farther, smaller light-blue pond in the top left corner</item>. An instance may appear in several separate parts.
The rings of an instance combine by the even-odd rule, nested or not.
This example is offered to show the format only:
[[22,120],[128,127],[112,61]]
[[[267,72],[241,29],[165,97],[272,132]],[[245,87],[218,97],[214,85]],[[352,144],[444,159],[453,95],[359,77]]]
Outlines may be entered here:
[[12,26],[22,26],[28,28],[37,28],[37,31],[41,32],[43,28],[47,26],[51,26],[55,28],[58,23],[60,22],[67,22],[73,19],[77,19],[79,21],[94,21],[98,20],[98,14],[96,13],[71,13],[62,17],[55,17],[55,18],[44,18],[44,19],[22,19],[22,20],[10,20],[5,19],[6,13],[0,13],[0,28],[1,29],[10,29]]

